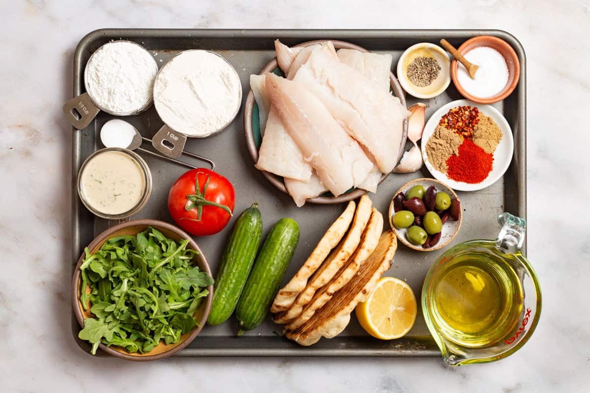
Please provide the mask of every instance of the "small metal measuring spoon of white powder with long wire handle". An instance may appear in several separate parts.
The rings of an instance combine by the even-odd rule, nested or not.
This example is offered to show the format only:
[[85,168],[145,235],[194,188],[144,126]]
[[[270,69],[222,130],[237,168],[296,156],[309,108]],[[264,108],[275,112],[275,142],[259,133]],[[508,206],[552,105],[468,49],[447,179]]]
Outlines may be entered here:
[[[104,126],[100,129],[100,141],[103,143],[104,147],[119,147],[126,148],[127,150],[139,150],[142,153],[149,154],[150,156],[163,158],[166,161],[181,164],[191,169],[198,168],[192,166],[189,163],[185,163],[184,161],[162,156],[162,154],[154,153],[153,151],[142,148],[141,146],[143,141],[152,143],[152,140],[142,137],[139,131],[137,131],[137,128],[133,127],[132,124],[127,123],[127,121],[124,120],[112,119],[104,123]],[[215,170],[215,163],[212,160],[209,160],[209,158],[199,156],[198,154],[191,153],[190,151],[186,150],[183,150],[182,153],[198,160],[205,161],[209,164],[209,166],[211,166],[211,170]]]

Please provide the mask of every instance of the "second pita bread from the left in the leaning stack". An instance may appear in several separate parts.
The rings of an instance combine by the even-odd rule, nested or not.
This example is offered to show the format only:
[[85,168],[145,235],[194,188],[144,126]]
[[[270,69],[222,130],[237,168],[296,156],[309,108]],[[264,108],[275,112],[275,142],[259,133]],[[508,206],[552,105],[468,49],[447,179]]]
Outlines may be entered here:
[[363,195],[360,197],[358,206],[356,206],[355,219],[352,220],[352,225],[346,237],[332,250],[322,263],[322,266],[313,273],[312,278],[307,282],[305,289],[299,293],[293,305],[287,311],[278,313],[274,318],[274,322],[287,323],[299,316],[303,311],[303,307],[312,301],[316,290],[326,285],[340,270],[360,243],[360,236],[369,222],[369,217],[371,217],[372,205],[373,203],[368,196]]

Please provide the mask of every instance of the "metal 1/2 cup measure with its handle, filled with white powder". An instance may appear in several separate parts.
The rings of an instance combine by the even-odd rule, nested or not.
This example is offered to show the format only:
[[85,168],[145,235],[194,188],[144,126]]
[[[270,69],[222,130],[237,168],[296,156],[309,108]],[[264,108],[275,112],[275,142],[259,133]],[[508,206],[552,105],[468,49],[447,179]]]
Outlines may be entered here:
[[139,114],[153,102],[156,74],[158,64],[146,48],[126,40],[107,42],[90,56],[84,68],[86,93],[64,104],[65,117],[81,130],[100,111]]

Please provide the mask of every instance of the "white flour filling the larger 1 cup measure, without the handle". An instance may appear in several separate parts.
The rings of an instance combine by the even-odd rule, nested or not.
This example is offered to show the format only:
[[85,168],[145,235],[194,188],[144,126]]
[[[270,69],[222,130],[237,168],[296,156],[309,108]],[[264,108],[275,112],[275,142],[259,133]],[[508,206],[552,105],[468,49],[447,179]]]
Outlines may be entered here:
[[240,77],[224,58],[182,52],[160,70],[153,102],[166,126],[186,136],[207,136],[227,126],[241,101]]

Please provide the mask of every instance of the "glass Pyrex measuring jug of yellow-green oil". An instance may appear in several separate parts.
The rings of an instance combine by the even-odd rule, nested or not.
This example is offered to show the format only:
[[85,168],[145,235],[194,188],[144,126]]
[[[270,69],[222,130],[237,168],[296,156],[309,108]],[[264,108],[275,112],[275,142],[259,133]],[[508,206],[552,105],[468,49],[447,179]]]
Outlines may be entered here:
[[539,322],[541,290],[522,254],[526,221],[498,216],[496,240],[471,240],[441,255],[422,286],[428,329],[452,366],[512,355]]

